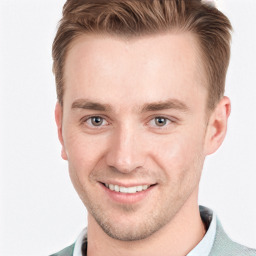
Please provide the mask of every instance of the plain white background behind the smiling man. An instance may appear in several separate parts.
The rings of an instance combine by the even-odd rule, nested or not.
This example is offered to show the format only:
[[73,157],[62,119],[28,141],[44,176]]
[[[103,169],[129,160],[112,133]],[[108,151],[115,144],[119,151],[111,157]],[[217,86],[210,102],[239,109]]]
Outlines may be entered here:
[[[71,244],[86,211],[60,158],[51,44],[63,0],[0,2],[0,255],[48,255]],[[210,156],[200,200],[227,233],[256,248],[256,1],[219,0],[233,27],[226,140]]]

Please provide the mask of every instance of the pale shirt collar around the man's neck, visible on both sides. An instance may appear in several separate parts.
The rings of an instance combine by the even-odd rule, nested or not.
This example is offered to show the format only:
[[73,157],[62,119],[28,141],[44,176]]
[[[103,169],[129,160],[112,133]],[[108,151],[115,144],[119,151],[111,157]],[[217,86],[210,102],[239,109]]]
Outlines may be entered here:
[[[213,242],[216,235],[216,214],[203,206],[199,207],[202,221],[207,227],[207,232],[199,244],[189,253],[187,256],[207,256],[213,246]],[[79,234],[74,247],[73,256],[82,256],[82,245],[84,238],[87,236],[87,228]]]

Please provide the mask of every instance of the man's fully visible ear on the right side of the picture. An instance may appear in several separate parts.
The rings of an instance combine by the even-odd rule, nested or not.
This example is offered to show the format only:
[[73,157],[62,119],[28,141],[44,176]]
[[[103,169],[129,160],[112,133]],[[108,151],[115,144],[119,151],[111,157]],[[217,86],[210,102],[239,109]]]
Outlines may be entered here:
[[230,99],[224,96],[211,113],[205,137],[205,154],[214,153],[222,144],[226,132],[228,117],[231,111]]

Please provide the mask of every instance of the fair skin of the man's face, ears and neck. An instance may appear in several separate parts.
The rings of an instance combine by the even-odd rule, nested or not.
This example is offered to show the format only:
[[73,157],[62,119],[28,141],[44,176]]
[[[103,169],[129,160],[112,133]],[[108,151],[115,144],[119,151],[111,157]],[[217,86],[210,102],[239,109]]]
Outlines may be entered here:
[[[84,35],[69,50],[55,115],[88,210],[89,256],[186,255],[203,238],[199,181],[225,137],[230,101],[207,111],[199,52],[188,32]],[[152,186],[118,201],[102,183]]]

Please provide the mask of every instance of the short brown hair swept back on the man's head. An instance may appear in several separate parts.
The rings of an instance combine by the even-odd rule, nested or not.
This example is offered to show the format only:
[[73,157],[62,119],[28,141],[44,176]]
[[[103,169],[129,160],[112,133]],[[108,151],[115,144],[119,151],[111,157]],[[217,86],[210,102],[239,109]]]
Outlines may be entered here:
[[65,58],[77,37],[88,33],[139,37],[174,29],[191,31],[198,39],[208,107],[213,109],[225,90],[232,26],[222,12],[200,0],[67,0],[52,49],[58,101],[63,104]]

